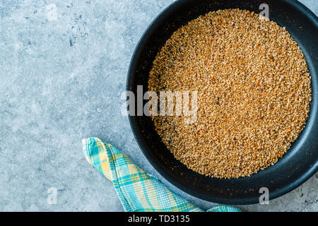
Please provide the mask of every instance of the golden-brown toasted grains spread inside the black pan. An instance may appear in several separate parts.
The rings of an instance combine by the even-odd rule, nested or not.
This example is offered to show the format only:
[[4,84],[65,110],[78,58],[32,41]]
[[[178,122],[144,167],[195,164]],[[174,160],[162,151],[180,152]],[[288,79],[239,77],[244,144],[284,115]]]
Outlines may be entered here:
[[215,11],[173,33],[148,81],[155,92],[196,90],[196,122],[152,119],[163,143],[189,169],[245,177],[273,165],[298,138],[310,111],[310,80],[285,28],[251,11]]

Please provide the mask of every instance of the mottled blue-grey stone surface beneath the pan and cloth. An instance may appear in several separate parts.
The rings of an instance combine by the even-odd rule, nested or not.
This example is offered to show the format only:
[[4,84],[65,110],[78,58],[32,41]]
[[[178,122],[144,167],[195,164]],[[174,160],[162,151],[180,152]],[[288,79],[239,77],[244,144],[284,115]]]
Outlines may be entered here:
[[[318,14],[317,0],[301,2]],[[122,211],[112,184],[83,156],[81,138],[90,136],[112,143],[201,208],[216,205],[160,177],[120,113],[134,48],[171,3],[0,0],[1,211]],[[50,187],[58,190],[57,205],[47,203]],[[315,174],[269,205],[242,210],[317,211],[317,187]]]

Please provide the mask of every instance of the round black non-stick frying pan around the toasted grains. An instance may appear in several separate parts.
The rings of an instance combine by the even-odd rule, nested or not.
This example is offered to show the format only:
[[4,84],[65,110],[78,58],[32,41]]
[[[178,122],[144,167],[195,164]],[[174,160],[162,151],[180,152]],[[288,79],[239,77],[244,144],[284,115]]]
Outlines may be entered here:
[[276,165],[252,177],[217,179],[187,169],[173,157],[156,133],[150,117],[129,116],[131,128],[143,154],[169,182],[193,196],[224,204],[259,202],[259,189],[267,187],[269,198],[282,196],[300,186],[318,169],[318,18],[298,1],[287,0],[183,0],[163,11],[148,27],[131,59],[127,90],[147,91],[148,74],[158,50],[177,28],[209,11],[240,8],[259,13],[269,5],[269,18],[285,27],[305,54],[312,76],[310,117],[297,141]]

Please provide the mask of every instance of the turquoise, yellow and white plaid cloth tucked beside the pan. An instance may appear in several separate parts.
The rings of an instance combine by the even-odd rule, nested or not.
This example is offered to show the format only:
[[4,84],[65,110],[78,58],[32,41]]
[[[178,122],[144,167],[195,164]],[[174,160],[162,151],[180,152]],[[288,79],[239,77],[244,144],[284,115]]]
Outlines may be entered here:
[[[107,177],[117,191],[124,210],[129,212],[203,212],[167,189],[158,179],[146,174],[129,157],[98,138],[83,140],[86,160]],[[208,212],[240,212],[230,206],[218,206]]]

